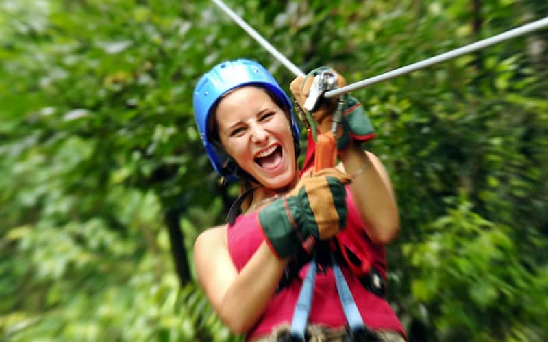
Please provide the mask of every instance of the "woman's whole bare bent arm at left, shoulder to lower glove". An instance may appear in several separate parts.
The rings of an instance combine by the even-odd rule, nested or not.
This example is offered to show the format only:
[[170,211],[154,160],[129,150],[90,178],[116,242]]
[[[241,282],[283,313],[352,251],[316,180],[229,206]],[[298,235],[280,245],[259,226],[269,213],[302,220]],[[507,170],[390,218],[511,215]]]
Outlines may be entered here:
[[227,226],[204,231],[194,245],[198,280],[217,315],[232,332],[247,332],[265,310],[284,272],[280,260],[262,242],[238,273],[227,244]]

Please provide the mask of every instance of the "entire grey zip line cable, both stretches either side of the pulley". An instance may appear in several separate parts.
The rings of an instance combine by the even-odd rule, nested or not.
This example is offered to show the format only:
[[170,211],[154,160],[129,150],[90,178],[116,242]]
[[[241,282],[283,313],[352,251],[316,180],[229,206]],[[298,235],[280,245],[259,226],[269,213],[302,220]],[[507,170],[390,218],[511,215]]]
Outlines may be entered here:
[[[295,66],[295,64],[293,64],[290,60],[288,60],[286,56],[282,55],[282,53],[280,53],[275,47],[273,47],[272,44],[270,44],[268,41],[262,38],[262,36],[255,29],[253,29],[253,27],[249,26],[242,18],[240,18],[238,14],[230,10],[230,8],[228,8],[227,5],[223,3],[223,1],[221,0],[212,0],[212,1],[217,6],[219,6],[219,8],[221,8],[221,10],[223,10],[230,18],[232,18],[232,20],[234,20],[236,24],[240,25],[240,27],[242,27],[242,29],[244,29],[244,31],[246,31],[247,34],[249,34],[249,36],[254,38],[259,44],[261,44],[262,47],[266,49],[266,51],[269,51],[273,55],[273,57],[275,57],[279,62],[284,64],[284,66],[286,66],[286,68],[288,68],[293,74],[295,74],[295,76],[306,75],[305,73],[303,73],[301,69],[299,69],[297,66]],[[462,55],[466,55],[466,53],[472,53],[480,49],[485,49],[486,47],[490,47],[491,45],[498,44],[499,42],[503,42],[504,40],[509,40],[511,38],[515,38],[518,36],[523,36],[524,34],[528,34],[532,31],[536,31],[544,27],[548,27],[548,17],[539,19],[538,21],[533,21],[532,23],[521,25],[519,27],[516,27],[515,29],[510,29],[509,31],[503,32],[501,34],[497,34],[490,38],[479,40],[478,42],[474,42],[472,44],[464,45],[464,47],[460,47],[458,49],[454,49],[446,53],[436,55],[434,57],[429,57],[426,60],[409,64],[407,66],[402,66],[392,71],[388,71],[386,73],[382,73],[377,76],[369,77],[362,81],[351,83],[341,88],[329,90],[328,92],[325,92],[323,96],[325,98],[332,98],[335,96],[346,94],[347,92],[351,92],[353,90],[366,88],[376,83],[388,81],[388,79],[393,79],[401,75],[412,73],[413,71],[416,71],[416,70],[427,68],[428,66],[433,66],[434,64],[438,64],[441,62],[445,62],[447,60],[451,60],[456,57],[460,57]]]

